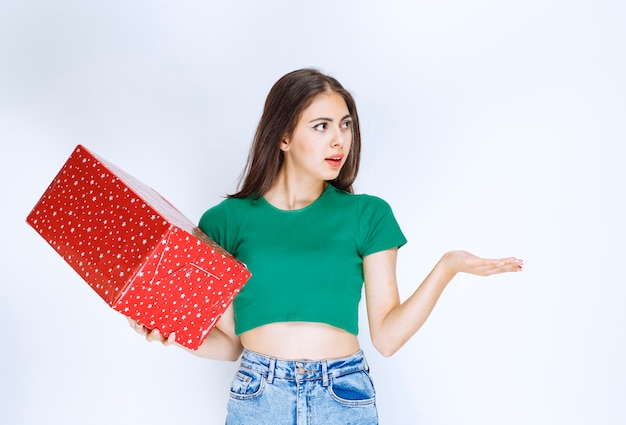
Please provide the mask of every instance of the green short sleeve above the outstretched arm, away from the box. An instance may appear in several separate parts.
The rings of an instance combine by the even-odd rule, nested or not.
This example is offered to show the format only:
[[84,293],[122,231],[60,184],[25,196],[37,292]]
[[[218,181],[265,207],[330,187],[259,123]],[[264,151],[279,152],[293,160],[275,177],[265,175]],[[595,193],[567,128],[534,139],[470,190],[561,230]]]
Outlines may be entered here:
[[396,221],[391,206],[383,199],[362,195],[359,205],[360,254],[399,248],[407,240]]

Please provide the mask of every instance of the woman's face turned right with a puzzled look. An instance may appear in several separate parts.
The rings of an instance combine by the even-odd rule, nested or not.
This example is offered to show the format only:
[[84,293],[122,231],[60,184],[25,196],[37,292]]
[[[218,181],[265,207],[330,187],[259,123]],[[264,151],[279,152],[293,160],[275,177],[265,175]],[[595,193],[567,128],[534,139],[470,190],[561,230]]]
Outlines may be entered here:
[[281,141],[284,171],[298,179],[334,180],[351,145],[352,117],[346,102],[336,92],[321,93]]

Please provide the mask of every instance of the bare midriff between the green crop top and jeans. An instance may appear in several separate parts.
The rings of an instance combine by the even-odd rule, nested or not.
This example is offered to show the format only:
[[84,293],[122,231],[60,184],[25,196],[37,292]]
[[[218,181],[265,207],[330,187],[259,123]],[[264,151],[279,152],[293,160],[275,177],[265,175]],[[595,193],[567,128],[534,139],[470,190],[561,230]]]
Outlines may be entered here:
[[323,323],[271,323],[240,338],[246,349],[278,359],[338,359],[360,350],[356,335]]

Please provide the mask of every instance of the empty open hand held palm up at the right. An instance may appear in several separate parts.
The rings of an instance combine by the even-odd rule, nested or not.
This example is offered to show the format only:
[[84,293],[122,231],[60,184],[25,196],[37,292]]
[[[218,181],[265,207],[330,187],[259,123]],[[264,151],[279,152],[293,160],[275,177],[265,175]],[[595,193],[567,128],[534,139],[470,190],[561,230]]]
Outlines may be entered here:
[[443,260],[455,274],[469,273],[477,276],[521,272],[524,266],[524,260],[515,257],[487,259],[467,251],[450,251],[444,255]]

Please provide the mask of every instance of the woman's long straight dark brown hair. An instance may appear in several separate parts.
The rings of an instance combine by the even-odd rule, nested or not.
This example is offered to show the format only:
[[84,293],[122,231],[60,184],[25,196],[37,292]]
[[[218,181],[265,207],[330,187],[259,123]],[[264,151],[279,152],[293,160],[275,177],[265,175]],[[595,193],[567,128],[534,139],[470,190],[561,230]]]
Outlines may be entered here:
[[239,191],[229,198],[260,198],[270,188],[283,165],[284,153],[280,142],[290,135],[298,119],[321,93],[336,92],[346,102],[352,118],[352,145],[346,163],[336,179],[330,181],[338,189],[352,193],[352,183],[359,172],[361,160],[361,131],[356,103],[343,86],[328,75],[311,68],[292,71],[281,77],[271,88],[261,120],[256,129],[248,161],[242,173]]

